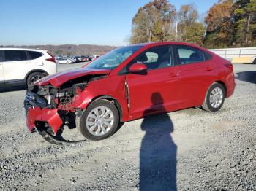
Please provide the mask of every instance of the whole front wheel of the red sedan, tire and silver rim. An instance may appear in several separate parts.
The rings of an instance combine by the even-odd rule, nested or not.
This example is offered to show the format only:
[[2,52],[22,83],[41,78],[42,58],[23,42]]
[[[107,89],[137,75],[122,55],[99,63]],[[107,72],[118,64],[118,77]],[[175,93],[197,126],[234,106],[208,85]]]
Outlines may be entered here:
[[80,132],[87,139],[93,141],[106,139],[118,128],[118,109],[108,100],[94,101],[80,117],[78,123]]

